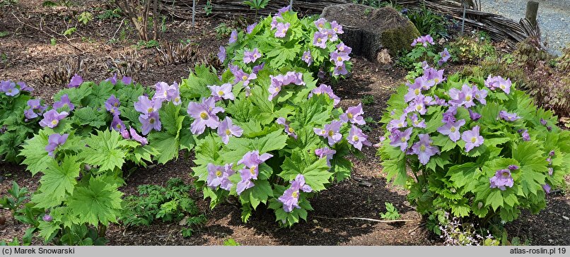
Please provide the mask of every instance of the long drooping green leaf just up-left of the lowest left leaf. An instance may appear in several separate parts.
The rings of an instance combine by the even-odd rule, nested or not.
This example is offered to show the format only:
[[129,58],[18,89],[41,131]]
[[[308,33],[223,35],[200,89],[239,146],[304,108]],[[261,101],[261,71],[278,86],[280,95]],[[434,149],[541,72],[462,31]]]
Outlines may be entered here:
[[32,202],[37,208],[52,208],[60,205],[62,201],[71,195],[77,184],[80,163],[75,155],[66,156],[61,165],[56,160],[47,162],[47,169],[40,179],[40,193],[35,193]]

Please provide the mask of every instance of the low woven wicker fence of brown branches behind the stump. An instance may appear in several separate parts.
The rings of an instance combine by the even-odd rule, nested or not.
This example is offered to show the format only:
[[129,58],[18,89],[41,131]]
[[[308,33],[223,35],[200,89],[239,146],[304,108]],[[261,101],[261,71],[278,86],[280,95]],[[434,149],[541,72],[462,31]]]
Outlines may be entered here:
[[[163,9],[170,15],[183,19],[192,18],[192,0],[162,1]],[[303,13],[321,13],[325,6],[352,2],[351,0],[293,0],[293,8]],[[426,8],[462,20],[463,6],[460,2],[460,0],[397,0],[397,4],[406,8],[421,8],[425,4]],[[470,7],[465,11],[465,25],[488,32],[492,40],[504,41],[510,47],[514,47],[516,43],[529,36],[540,37],[538,25],[531,25],[526,18],[517,23],[515,20],[504,16],[479,11],[481,5],[477,1],[468,2],[470,2]],[[204,10],[206,4],[207,0],[196,0],[195,11],[197,15],[204,16],[206,14]],[[212,14],[253,15],[255,13],[255,10],[250,9],[249,6],[243,4],[243,1],[239,0],[210,0],[210,4]],[[266,8],[258,11],[257,14],[276,13],[277,9],[287,5],[289,5],[289,0],[272,0],[269,1]]]

